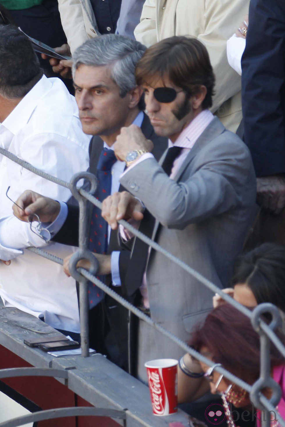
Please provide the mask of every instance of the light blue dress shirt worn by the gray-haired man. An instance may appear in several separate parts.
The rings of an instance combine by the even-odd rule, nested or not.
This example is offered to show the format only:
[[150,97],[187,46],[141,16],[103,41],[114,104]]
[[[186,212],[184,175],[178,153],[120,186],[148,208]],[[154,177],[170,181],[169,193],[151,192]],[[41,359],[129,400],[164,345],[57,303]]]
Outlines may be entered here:
[[[138,127],[141,127],[142,122],[144,120],[144,113],[140,111],[135,118],[135,120],[132,122],[133,125],[136,125]],[[104,148],[113,150],[113,146],[109,147],[106,142],[104,142]],[[123,170],[126,167],[126,162],[117,160],[112,168],[111,168],[111,174],[112,174],[112,183],[111,183],[111,194],[117,193],[119,191],[120,187],[120,177],[123,173]],[[62,228],[62,225],[64,224],[67,216],[68,216],[68,207],[65,203],[60,202],[61,208],[59,215],[53,221],[50,225],[45,225],[47,229],[50,231],[51,236],[55,236],[56,233],[59,232],[59,230]],[[110,235],[111,235],[111,226],[108,225],[108,242],[110,241]],[[120,286],[121,280],[120,280],[120,269],[119,269],[119,257],[120,252],[119,251],[113,251],[111,254],[111,275],[112,275],[112,284],[113,286]]]

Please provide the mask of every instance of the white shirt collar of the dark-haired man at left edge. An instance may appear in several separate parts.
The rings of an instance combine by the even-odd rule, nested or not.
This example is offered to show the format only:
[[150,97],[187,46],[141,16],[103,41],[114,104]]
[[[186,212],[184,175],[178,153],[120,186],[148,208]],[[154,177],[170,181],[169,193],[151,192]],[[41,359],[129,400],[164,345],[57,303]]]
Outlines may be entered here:
[[35,84],[35,86],[24,96],[14,110],[1,123],[0,128],[4,126],[13,135],[18,132],[28,123],[33,111],[35,110],[39,99],[45,94],[47,89],[52,87],[52,83],[46,76]]

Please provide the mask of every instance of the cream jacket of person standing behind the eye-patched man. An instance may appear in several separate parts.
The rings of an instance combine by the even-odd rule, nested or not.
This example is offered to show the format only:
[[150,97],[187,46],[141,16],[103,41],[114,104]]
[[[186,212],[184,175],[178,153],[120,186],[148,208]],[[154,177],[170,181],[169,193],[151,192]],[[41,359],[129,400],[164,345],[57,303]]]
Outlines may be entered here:
[[147,47],[173,35],[202,41],[216,76],[212,112],[226,129],[241,123],[241,77],[229,66],[226,41],[244,20],[249,0],[146,0],[135,38]]

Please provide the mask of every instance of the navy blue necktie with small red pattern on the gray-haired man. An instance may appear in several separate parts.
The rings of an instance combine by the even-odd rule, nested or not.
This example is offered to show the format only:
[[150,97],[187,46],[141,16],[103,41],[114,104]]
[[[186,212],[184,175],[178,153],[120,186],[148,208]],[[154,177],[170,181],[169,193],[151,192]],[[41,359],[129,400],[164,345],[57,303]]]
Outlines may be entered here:
[[[102,202],[111,194],[112,173],[111,168],[117,161],[114,151],[104,148],[97,164],[98,187],[95,193],[96,199]],[[93,206],[91,216],[91,228],[89,249],[95,254],[106,254],[108,249],[108,223],[101,216],[101,211]],[[104,282],[104,276],[97,276]],[[89,307],[95,307],[104,296],[104,292],[94,283],[88,282]]]

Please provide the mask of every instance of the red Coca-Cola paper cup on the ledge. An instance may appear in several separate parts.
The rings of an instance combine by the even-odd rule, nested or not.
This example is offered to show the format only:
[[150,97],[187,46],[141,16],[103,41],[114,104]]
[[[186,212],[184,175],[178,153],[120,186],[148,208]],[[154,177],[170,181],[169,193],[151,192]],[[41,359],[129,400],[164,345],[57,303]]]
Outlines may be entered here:
[[144,364],[150,387],[153,415],[177,412],[177,364],[175,359],[150,360]]

